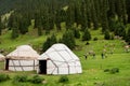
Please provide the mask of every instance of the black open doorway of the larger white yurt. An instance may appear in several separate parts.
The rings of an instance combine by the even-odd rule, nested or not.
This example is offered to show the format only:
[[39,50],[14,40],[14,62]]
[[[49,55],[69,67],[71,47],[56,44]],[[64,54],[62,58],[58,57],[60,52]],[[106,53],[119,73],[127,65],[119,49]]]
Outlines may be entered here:
[[47,60],[39,60],[40,74],[47,74]]

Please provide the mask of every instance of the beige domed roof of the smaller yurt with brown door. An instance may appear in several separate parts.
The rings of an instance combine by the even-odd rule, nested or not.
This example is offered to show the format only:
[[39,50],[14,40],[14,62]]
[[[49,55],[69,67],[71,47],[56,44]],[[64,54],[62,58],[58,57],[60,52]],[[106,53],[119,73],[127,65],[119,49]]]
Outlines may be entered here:
[[16,49],[6,55],[10,59],[37,59],[39,54],[29,45],[17,46]]

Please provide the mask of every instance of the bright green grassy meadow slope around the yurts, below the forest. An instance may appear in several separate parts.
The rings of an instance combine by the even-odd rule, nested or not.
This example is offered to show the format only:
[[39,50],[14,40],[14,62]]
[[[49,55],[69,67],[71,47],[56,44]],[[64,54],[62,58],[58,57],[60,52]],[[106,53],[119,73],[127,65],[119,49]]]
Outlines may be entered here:
[[[29,28],[32,28],[30,26]],[[31,29],[29,29],[31,30]],[[36,46],[41,46],[42,42],[46,40],[46,35],[37,37],[35,30],[31,30],[26,35],[21,35],[15,41],[10,40],[10,33],[8,32],[0,39],[2,39],[2,44],[0,44],[0,48],[5,49],[13,49],[15,46],[21,44],[32,44]],[[60,38],[63,32],[57,32],[57,37]],[[32,35],[34,34],[34,35]],[[79,56],[82,64],[82,74],[75,74],[68,75],[69,83],[64,86],[130,86],[130,53],[125,53],[123,47],[120,40],[113,40],[106,41],[103,40],[103,35],[101,34],[100,30],[91,31],[92,38],[98,37],[98,41],[90,41],[90,45],[86,45],[86,42],[81,42],[77,40],[76,43],[78,49],[75,49],[74,53]],[[31,37],[30,37],[31,35]],[[3,40],[5,39],[5,40]],[[104,45],[114,44],[114,54],[107,54],[107,58],[102,59],[101,53],[104,49]],[[105,47],[107,52],[109,52],[109,46]],[[92,56],[86,60],[83,55],[89,51],[95,52],[95,58],[93,59]],[[109,74],[103,72],[104,69],[112,69],[112,68],[119,68],[120,72],[116,74]],[[0,62],[0,69],[3,69],[3,62]],[[25,72],[27,74],[34,74],[34,72]],[[22,74],[22,72],[12,72],[10,73],[11,77],[16,74]],[[47,81],[47,86],[63,86],[62,84],[57,83],[60,75],[42,75]],[[0,83],[0,86],[14,86],[11,81]],[[95,85],[98,83],[99,85]],[[18,84],[20,86],[43,86],[43,85],[34,85],[30,83],[26,84]],[[17,84],[16,84],[17,86]]]

